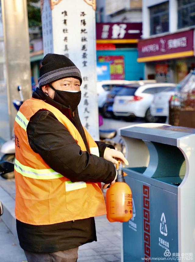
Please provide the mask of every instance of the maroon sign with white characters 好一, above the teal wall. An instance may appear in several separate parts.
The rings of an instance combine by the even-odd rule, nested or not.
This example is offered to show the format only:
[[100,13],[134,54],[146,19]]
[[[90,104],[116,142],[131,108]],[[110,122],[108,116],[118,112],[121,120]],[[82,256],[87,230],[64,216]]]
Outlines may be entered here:
[[97,23],[97,43],[132,42],[136,43],[142,34],[142,23]]

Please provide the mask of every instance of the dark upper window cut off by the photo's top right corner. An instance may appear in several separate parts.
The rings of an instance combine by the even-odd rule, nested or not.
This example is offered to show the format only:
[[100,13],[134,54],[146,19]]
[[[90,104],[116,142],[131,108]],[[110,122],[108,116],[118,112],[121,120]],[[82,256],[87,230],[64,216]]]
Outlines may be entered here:
[[178,0],[178,28],[195,25],[195,1]]

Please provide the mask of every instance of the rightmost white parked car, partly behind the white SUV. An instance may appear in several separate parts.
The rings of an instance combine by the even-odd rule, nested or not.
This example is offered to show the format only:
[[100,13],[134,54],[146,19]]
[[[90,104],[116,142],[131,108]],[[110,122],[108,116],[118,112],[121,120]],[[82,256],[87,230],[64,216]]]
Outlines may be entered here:
[[169,100],[176,94],[176,86],[176,84],[172,84],[171,86],[165,87],[162,92],[154,94],[154,98],[150,107],[151,115],[157,117],[168,117]]

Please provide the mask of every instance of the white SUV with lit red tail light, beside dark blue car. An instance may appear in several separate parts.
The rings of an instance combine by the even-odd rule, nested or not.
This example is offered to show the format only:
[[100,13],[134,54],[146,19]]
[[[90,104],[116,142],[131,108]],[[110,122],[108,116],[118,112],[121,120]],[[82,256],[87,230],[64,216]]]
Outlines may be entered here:
[[158,117],[152,116],[150,106],[154,94],[165,88],[175,86],[171,83],[144,83],[124,85],[114,98],[113,112],[116,116],[136,116],[145,118],[147,122],[157,122]]

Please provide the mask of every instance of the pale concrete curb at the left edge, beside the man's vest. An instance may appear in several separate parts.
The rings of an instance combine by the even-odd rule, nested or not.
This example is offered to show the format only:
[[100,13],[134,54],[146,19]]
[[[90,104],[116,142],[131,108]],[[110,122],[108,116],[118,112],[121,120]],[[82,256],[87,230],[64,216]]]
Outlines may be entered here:
[[0,187],[0,200],[3,205],[3,215],[1,219],[12,234],[18,238],[16,231],[15,201],[2,187]]

